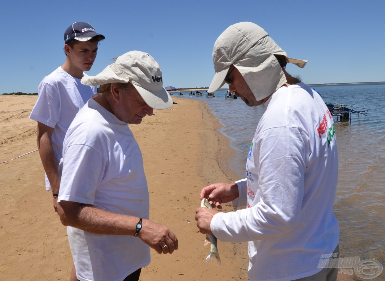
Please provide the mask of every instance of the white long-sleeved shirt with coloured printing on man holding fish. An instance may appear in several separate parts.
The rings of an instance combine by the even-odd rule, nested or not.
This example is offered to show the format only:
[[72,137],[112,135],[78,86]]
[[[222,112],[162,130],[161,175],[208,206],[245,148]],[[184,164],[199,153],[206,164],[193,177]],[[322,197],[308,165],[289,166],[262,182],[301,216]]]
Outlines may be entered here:
[[211,231],[221,241],[248,241],[250,280],[293,280],[321,271],[321,255],[338,244],[334,123],[303,83],[281,87],[265,106],[247,177],[236,182],[233,204],[247,208],[214,215]]

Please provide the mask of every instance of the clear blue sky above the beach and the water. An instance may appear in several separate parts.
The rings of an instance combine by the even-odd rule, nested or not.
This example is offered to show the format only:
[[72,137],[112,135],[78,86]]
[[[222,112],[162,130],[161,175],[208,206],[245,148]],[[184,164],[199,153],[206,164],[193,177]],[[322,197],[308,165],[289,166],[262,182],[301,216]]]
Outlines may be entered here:
[[65,61],[64,31],[73,22],[94,25],[99,45],[95,75],[130,50],[159,63],[164,86],[208,87],[216,38],[229,25],[250,21],[265,29],[303,82],[385,81],[385,2],[381,1],[5,1],[1,93],[35,93],[44,76]]

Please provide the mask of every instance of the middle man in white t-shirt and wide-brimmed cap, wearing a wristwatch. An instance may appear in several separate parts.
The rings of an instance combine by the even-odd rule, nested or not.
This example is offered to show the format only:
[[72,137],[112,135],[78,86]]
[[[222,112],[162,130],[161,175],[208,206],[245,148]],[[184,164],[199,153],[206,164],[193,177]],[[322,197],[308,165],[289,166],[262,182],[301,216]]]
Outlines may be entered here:
[[101,86],[65,135],[58,200],[81,281],[139,280],[150,247],[159,254],[178,248],[170,229],[149,220],[142,153],[129,126],[172,106],[162,80],[159,64],[139,51],[82,78]]

